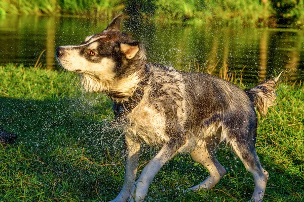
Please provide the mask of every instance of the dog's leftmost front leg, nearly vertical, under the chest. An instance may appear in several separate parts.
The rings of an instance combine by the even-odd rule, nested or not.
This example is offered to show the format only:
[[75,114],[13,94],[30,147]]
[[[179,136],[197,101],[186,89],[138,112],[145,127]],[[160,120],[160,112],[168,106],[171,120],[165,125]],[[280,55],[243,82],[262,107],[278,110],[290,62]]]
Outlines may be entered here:
[[125,135],[125,179],[124,185],[118,196],[110,202],[125,202],[134,186],[139,157],[140,142]]

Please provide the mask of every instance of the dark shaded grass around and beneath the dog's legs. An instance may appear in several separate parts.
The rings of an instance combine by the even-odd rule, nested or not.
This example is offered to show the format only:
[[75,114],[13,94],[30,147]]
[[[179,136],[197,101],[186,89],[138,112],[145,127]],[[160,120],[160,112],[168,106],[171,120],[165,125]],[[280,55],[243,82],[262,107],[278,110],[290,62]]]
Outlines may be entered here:
[[[112,119],[111,104],[78,98],[22,100],[0,98],[0,124],[18,134],[17,143],[0,145],[0,198],[4,201],[103,201],[113,199],[123,184],[123,138]],[[157,149],[142,146],[140,169]],[[259,150],[259,149],[258,149]],[[258,152],[259,153],[259,152]],[[258,154],[271,178],[264,201],[301,201],[303,176]],[[146,201],[246,201],[254,182],[229,146],[218,160],[227,175],[210,191],[183,190],[203,181],[208,172],[189,155],[173,158],[151,184]],[[140,173],[140,172],[139,172]],[[288,185],[286,185],[288,184]],[[100,197],[100,198],[99,198]]]

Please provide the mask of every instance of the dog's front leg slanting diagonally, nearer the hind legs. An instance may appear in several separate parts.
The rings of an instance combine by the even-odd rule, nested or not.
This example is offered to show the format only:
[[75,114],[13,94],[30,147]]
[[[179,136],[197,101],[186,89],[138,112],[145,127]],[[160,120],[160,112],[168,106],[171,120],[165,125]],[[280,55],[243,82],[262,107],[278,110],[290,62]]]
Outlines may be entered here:
[[138,202],[145,198],[149,185],[155,175],[177,153],[178,148],[180,148],[183,142],[183,138],[174,138],[163,145],[156,157],[144,167],[140,177],[135,182],[128,201]]

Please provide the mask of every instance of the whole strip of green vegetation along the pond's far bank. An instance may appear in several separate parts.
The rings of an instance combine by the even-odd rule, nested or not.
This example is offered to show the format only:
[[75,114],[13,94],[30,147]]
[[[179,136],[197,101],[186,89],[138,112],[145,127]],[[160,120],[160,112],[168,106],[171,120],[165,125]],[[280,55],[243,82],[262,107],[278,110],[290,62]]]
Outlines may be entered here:
[[124,9],[131,16],[152,17],[173,22],[220,22],[275,26],[304,24],[303,0],[2,0],[0,16],[5,14],[112,15]]

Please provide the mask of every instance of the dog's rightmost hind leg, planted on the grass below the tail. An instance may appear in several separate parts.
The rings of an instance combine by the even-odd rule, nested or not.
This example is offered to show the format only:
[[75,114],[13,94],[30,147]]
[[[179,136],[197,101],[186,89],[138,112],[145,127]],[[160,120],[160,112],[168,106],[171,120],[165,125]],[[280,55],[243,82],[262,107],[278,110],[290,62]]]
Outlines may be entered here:
[[255,186],[251,201],[262,201],[269,174],[260,165],[256,155],[254,141],[250,142],[249,145],[242,144],[242,146],[239,142],[240,141],[231,142],[231,145],[246,169],[253,175]]

